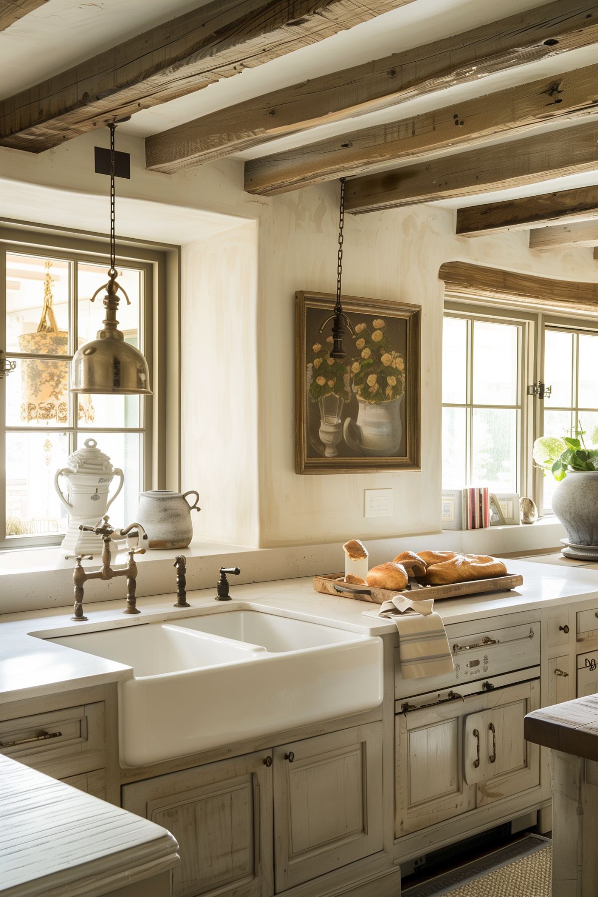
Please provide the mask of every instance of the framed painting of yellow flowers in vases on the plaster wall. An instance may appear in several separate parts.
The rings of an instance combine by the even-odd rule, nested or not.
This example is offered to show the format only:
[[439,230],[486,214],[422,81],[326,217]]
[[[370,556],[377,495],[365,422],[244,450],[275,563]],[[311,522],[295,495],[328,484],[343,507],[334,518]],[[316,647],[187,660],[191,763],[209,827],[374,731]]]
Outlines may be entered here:
[[298,474],[420,470],[419,305],[342,297],[351,322],[330,357],[334,295],[297,292]]

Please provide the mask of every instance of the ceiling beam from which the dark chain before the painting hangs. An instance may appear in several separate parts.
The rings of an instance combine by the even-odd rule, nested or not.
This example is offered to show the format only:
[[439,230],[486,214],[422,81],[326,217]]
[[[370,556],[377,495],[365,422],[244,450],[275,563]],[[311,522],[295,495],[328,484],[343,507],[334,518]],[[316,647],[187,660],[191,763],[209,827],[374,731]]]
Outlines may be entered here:
[[587,115],[598,103],[598,65],[521,84],[414,118],[349,131],[245,163],[245,189],[269,196],[360,174],[449,146],[474,146],[503,132],[522,133],[554,118]]

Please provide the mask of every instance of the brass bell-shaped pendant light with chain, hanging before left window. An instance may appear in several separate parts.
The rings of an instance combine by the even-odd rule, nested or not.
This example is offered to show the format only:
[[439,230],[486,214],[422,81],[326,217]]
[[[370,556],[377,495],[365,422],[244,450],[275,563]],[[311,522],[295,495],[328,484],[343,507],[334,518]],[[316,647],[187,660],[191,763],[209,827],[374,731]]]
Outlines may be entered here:
[[98,293],[106,289],[104,327],[97,338],[82,345],[74,354],[70,392],[92,395],[152,396],[150,371],[147,361],[139,349],[125,342],[125,336],[118,329],[118,291],[125,296],[128,305],[131,300],[117,283],[116,237],[115,237],[115,150],[114,132],[116,124],[108,125],[110,131],[110,268],[108,283],[102,284],[91,296],[95,300]]

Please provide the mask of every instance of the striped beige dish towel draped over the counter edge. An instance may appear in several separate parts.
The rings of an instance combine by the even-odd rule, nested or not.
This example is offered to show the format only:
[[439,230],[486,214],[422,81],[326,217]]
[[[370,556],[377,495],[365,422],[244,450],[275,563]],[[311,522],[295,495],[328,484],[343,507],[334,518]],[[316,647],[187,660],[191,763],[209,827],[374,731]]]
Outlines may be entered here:
[[455,672],[445,624],[433,607],[433,598],[412,601],[411,598],[395,595],[380,605],[377,614],[364,611],[368,616],[388,617],[396,623],[403,679]]

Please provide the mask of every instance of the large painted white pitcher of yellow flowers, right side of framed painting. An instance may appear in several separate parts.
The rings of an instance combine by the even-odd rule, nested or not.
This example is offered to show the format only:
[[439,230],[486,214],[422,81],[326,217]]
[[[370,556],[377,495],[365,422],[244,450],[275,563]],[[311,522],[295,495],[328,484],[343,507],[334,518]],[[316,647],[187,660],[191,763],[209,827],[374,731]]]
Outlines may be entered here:
[[378,457],[394,455],[403,436],[401,401],[405,393],[405,364],[386,334],[382,318],[371,328],[355,326],[355,354],[351,360],[351,388],[357,396],[357,421],[344,422],[344,439],[360,452]]

